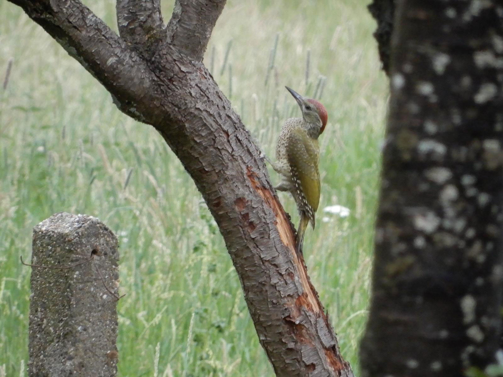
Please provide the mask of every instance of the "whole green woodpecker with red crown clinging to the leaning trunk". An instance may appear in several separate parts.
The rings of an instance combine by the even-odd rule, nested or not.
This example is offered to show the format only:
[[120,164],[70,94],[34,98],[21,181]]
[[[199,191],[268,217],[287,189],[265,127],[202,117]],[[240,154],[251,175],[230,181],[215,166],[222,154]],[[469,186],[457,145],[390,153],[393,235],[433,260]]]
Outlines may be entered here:
[[277,161],[271,165],[281,176],[281,183],[275,189],[290,192],[297,204],[300,214],[297,252],[301,253],[304,232],[309,222],[314,229],[314,215],[319,204],[318,137],[325,129],[327,113],[318,101],[286,88],[299,104],[302,118],[287,119],[281,127],[276,144]]

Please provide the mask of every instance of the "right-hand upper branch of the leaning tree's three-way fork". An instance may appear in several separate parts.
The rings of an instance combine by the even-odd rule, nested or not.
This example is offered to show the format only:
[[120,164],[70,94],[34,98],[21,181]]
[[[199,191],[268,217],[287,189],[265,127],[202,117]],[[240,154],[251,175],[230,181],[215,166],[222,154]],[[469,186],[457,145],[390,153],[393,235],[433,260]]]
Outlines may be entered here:
[[176,0],[167,25],[170,43],[195,60],[202,60],[211,31],[226,0]]

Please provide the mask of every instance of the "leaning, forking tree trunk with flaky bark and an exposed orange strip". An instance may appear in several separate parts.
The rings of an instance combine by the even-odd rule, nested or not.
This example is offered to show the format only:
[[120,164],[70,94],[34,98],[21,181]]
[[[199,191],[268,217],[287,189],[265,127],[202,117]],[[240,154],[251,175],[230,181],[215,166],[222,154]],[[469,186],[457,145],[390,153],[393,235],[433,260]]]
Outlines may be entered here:
[[[177,1],[165,36],[155,1],[141,2],[145,13],[137,3],[120,2],[121,37],[76,0],[12,2],[92,72],[121,111],[155,127],[180,158],[219,226],[276,374],[352,376],[297,258],[293,226],[260,148],[202,64],[225,1]],[[132,21],[139,14],[154,30],[151,50],[141,42],[149,43],[148,30]]]

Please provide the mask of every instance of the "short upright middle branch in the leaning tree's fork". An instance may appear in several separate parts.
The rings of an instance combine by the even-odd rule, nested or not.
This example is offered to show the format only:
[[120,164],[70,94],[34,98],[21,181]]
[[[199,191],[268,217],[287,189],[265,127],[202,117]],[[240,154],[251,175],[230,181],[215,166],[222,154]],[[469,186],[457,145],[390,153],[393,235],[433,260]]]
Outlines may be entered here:
[[116,10],[121,37],[134,50],[153,54],[166,36],[160,0],[117,0]]

